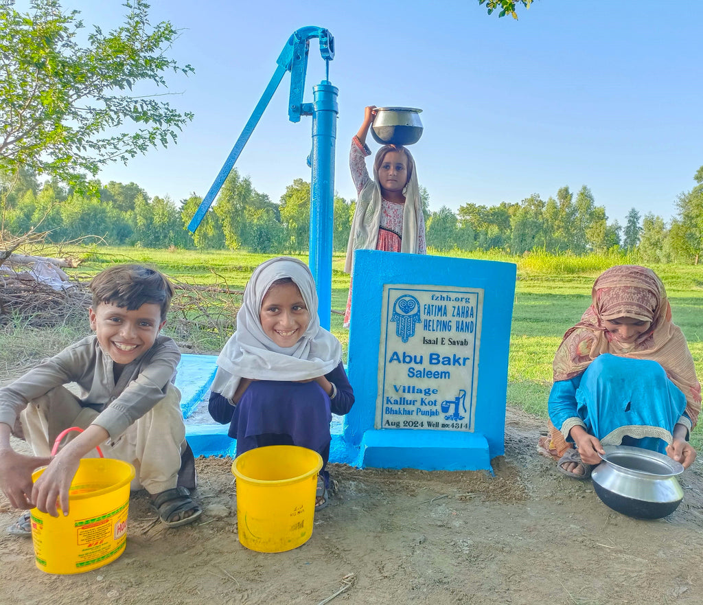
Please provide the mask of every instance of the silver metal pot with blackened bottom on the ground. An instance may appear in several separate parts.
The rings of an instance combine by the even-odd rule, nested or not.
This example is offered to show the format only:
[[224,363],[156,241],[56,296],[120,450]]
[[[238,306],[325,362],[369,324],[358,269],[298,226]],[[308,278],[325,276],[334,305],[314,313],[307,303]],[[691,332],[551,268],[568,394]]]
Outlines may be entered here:
[[604,445],[603,461],[593,469],[595,493],[614,511],[658,519],[676,510],[683,490],[676,475],[681,463],[659,452],[628,445]]

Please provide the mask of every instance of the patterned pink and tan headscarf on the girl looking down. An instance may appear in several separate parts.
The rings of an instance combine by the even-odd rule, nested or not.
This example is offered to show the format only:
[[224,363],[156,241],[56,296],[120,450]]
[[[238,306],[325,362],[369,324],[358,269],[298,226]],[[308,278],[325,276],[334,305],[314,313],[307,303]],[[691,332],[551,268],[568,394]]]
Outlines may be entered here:
[[[662,280],[647,267],[619,265],[595,280],[592,298],[581,321],[567,330],[557,349],[554,380],[578,376],[602,353],[653,359],[683,391],[686,412],[695,426],[701,409],[701,386],[686,339],[681,329],[671,323],[671,305]],[[652,325],[634,343],[619,343],[603,323],[618,317],[651,321]]]

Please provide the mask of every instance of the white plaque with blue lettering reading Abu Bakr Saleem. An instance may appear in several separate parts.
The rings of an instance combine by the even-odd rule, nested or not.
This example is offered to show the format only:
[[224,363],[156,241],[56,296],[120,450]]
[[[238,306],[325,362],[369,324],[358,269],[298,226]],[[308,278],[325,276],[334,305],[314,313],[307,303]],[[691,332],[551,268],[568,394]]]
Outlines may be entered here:
[[474,430],[482,288],[385,284],[375,428]]

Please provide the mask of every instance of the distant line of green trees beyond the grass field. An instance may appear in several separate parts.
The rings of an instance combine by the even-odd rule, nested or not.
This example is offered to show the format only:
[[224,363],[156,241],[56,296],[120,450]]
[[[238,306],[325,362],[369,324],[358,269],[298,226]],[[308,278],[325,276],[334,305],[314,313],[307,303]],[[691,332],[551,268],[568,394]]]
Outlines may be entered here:
[[[608,222],[605,207],[596,205],[587,186],[574,195],[565,186],[556,196],[538,194],[520,203],[494,206],[465,203],[458,211],[423,205],[427,245],[450,250],[502,250],[521,255],[602,253],[625,250],[646,262],[696,262],[703,250],[703,167],[697,186],[676,200],[678,216],[669,224],[654,214],[628,212],[626,224]],[[8,182],[4,182],[7,189]],[[148,193],[135,183],[93,183],[93,193],[78,195],[56,181],[40,184],[22,172],[5,198],[3,227],[13,235],[33,227],[50,231],[51,241],[85,236],[103,238],[111,246],[149,248],[243,249],[256,253],[299,253],[308,248],[310,184],[295,179],[278,203],[259,193],[248,177],[230,174],[200,227],[191,234],[191,221],[202,198],[193,194],[176,204]],[[353,200],[335,196],[333,247],[345,250],[354,215]]]

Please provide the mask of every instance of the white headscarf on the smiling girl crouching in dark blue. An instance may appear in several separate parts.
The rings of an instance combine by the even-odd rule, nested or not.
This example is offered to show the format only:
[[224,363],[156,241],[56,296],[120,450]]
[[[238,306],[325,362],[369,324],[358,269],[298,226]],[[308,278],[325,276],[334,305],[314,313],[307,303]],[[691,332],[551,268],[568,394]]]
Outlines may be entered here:
[[[292,347],[279,347],[266,336],[259,313],[271,284],[290,277],[310,312],[310,322]],[[342,360],[342,345],[320,326],[317,293],[310,269],[304,262],[287,256],[272,258],[252,273],[237,313],[237,331],[217,357],[217,374],[212,390],[233,400],[241,378],[300,381],[317,378],[335,369]]]

